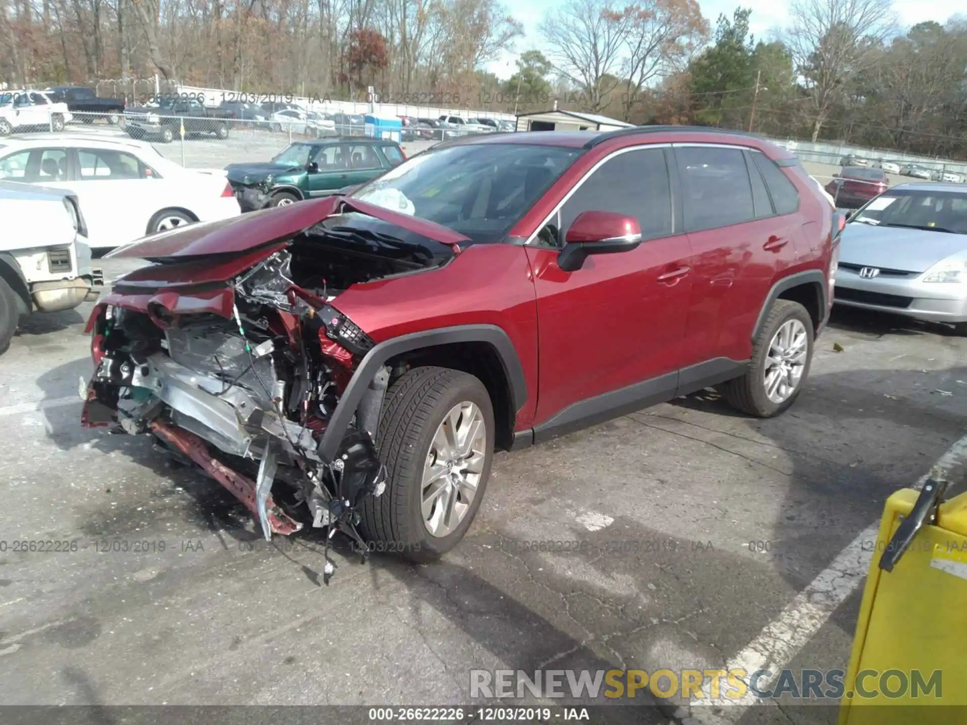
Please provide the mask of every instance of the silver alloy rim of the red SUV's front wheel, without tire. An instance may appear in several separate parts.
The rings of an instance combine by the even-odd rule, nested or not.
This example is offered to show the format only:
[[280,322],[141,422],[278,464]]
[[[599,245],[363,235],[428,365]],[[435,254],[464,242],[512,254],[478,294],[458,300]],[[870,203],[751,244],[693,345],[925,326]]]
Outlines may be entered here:
[[484,473],[486,447],[481,409],[469,401],[454,405],[437,427],[424,464],[421,501],[430,536],[447,536],[467,515]]

